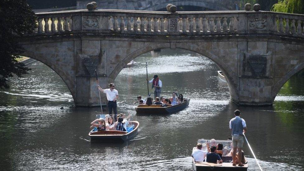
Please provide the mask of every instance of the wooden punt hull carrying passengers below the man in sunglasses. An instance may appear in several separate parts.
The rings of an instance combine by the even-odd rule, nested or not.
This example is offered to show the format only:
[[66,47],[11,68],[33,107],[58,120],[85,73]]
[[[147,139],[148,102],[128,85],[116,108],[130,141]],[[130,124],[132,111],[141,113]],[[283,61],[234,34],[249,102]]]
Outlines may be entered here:
[[118,141],[127,141],[131,140],[137,134],[139,122],[138,121],[130,121],[129,125],[134,125],[134,128],[131,132],[126,131],[90,131],[89,136],[91,141],[107,141],[107,142],[118,142]]

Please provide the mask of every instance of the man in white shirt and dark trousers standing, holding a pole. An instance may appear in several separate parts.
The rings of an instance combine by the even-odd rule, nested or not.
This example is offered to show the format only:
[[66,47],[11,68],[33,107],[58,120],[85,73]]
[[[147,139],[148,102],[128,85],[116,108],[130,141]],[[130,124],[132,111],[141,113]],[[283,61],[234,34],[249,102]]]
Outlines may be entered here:
[[115,85],[114,83],[110,83],[109,84],[108,89],[102,89],[99,85],[98,85],[98,89],[102,92],[102,93],[106,93],[107,95],[107,100],[108,100],[108,107],[109,107],[109,114],[112,114],[112,110],[114,112],[114,114],[112,114],[112,117],[114,119],[116,119],[116,115],[117,115],[117,98],[118,98],[118,91],[115,90]]

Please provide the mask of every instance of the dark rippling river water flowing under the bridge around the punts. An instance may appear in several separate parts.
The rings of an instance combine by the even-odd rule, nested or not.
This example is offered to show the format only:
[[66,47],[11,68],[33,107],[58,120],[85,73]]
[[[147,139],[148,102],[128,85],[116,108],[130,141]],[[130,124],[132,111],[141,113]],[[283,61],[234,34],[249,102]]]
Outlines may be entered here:
[[[147,94],[146,61],[149,78],[158,74],[163,92],[190,98],[188,108],[171,115],[136,115],[132,102]],[[246,120],[246,136],[264,170],[304,169],[302,77],[293,76],[273,106],[239,107],[230,102],[218,67],[206,57],[165,49],[135,62],[114,82],[118,112],[140,123],[135,139],[122,144],[90,142],[89,124],[100,108],[74,107],[54,71],[40,62],[30,64],[30,74],[12,79],[11,89],[0,92],[0,170],[192,170],[192,147],[201,138],[230,136],[235,109]],[[247,145],[244,151],[248,170],[258,170]]]

